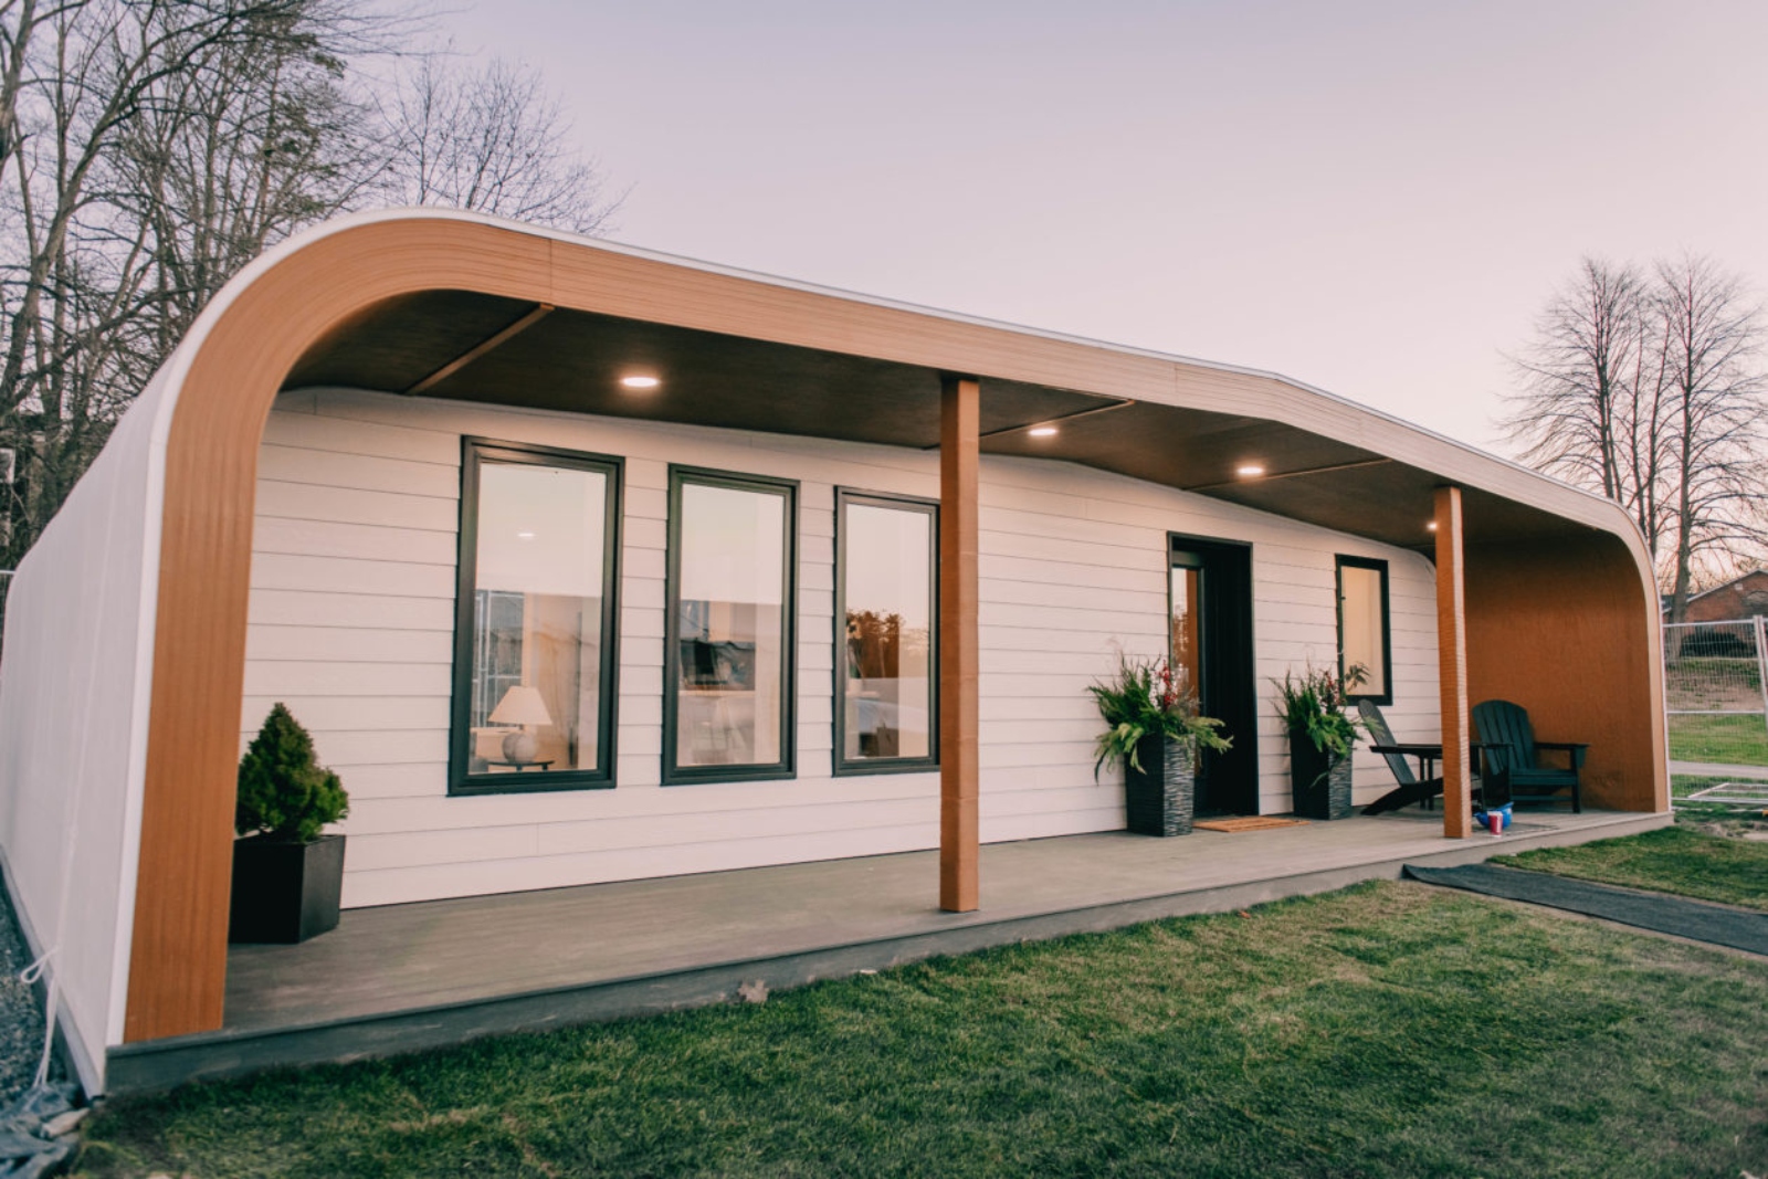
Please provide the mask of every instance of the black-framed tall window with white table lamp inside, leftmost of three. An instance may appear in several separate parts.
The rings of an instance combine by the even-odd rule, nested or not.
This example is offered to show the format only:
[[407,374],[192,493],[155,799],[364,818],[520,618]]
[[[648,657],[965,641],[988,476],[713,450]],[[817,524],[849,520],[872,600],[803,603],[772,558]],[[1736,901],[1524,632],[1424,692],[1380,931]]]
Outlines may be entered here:
[[621,463],[467,438],[451,794],[612,785]]

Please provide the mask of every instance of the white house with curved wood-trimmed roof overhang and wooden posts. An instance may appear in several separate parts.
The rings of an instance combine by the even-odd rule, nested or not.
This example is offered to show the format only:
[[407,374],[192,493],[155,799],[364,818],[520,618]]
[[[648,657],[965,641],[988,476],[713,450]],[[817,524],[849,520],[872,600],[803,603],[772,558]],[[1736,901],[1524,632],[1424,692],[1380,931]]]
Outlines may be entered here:
[[981,843],[1123,825],[1116,650],[1192,661],[1211,810],[1289,810],[1269,681],[1344,650],[1406,737],[1517,700],[1667,811],[1609,502],[1269,373],[403,210],[239,274],[23,562],[0,848],[103,1084],[223,1027],[272,702],[350,909],[939,848],[964,912]]

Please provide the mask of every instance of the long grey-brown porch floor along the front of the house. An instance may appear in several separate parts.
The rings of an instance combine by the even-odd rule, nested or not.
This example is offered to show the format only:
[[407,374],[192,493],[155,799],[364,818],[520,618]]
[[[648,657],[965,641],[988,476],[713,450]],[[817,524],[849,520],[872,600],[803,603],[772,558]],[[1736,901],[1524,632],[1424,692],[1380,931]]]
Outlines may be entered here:
[[753,979],[778,990],[1667,822],[1524,811],[1503,838],[1444,840],[1441,811],[1407,810],[1177,840],[994,843],[981,848],[983,907],[971,914],[935,907],[937,852],[354,909],[302,946],[232,947],[225,1027],[111,1048],[108,1089],[697,1006]]

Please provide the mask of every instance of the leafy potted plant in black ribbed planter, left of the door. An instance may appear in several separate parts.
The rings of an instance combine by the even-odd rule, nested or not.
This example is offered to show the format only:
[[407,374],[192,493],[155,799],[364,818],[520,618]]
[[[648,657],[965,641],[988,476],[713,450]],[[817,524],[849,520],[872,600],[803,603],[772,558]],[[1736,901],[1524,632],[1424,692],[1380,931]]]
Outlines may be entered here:
[[1232,744],[1216,732],[1222,721],[1197,712],[1197,696],[1177,688],[1165,659],[1119,654],[1117,673],[1087,691],[1105,718],[1093,778],[1107,762],[1123,762],[1130,831],[1190,833],[1197,749],[1220,753]]

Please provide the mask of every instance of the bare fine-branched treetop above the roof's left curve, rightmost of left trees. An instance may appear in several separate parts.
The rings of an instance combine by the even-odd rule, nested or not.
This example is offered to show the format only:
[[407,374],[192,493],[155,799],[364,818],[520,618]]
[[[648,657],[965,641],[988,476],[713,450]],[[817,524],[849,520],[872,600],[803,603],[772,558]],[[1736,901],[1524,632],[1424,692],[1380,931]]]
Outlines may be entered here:
[[447,53],[415,62],[385,104],[392,203],[477,209],[576,233],[608,228],[619,198],[539,72],[493,58],[465,69]]

